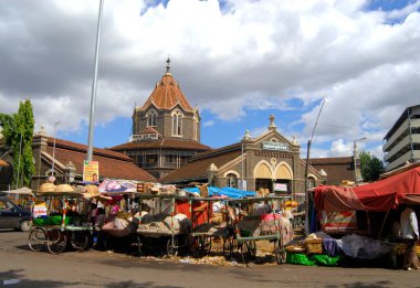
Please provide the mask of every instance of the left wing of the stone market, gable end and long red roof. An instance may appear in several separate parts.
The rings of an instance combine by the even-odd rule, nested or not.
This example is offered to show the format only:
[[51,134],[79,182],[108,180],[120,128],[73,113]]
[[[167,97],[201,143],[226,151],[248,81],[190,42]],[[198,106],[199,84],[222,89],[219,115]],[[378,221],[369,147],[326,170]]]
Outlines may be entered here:
[[[35,172],[32,175],[31,189],[38,190],[51,175],[55,184],[83,184],[83,163],[87,146],[48,136],[43,128],[33,136],[32,150]],[[0,170],[0,190],[9,190],[13,175],[13,156],[0,141],[0,158],[8,163]],[[138,168],[124,153],[107,149],[93,149],[93,161],[99,163],[99,181],[105,178],[156,182],[156,179]]]

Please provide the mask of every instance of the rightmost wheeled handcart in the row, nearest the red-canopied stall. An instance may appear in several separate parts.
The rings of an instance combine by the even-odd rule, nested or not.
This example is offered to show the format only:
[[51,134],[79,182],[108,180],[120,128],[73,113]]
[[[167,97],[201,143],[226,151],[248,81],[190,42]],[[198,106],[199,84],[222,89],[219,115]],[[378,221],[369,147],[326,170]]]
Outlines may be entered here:
[[275,213],[275,204],[281,207],[285,199],[286,196],[264,196],[229,200],[234,217],[234,236],[225,242],[225,249],[233,254],[237,247],[242,262],[248,266],[249,260],[256,257],[256,242],[269,241],[274,243],[276,263],[284,263],[286,254],[280,223],[282,215]]

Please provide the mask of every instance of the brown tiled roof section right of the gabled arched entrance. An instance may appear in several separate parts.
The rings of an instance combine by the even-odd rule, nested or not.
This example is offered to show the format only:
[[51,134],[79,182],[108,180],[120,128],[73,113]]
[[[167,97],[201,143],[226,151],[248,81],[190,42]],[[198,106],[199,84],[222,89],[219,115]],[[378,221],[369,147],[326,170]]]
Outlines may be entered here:
[[343,180],[355,180],[353,157],[317,158],[309,163],[316,170],[323,169],[327,173],[327,183],[340,183]]

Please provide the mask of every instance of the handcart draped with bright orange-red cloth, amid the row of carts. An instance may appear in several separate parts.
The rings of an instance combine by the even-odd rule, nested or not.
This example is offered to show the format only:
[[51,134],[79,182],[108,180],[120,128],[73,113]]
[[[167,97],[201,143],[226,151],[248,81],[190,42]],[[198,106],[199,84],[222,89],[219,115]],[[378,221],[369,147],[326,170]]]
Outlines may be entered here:
[[[216,237],[227,235],[225,209],[221,213],[213,213],[213,203],[220,202],[225,207],[227,199],[221,198],[190,198],[190,215],[192,221],[193,253],[200,256],[210,253]],[[222,207],[221,207],[222,209]]]

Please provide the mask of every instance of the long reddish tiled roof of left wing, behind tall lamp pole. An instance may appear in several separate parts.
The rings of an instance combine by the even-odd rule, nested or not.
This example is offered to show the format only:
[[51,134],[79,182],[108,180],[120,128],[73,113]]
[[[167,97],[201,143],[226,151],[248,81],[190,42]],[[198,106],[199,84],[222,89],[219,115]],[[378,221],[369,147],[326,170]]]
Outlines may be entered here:
[[[83,173],[83,161],[86,160],[87,147],[66,140],[55,139],[54,158],[62,164],[70,161],[76,168],[76,174]],[[46,152],[53,154],[53,139],[48,139]],[[94,149],[93,160],[99,162],[101,178],[115,178],[126,180],[150,181],[156,179],[148,172],[138,168],[133,160],[124,153],[107,149]]]

